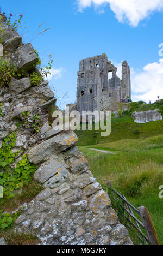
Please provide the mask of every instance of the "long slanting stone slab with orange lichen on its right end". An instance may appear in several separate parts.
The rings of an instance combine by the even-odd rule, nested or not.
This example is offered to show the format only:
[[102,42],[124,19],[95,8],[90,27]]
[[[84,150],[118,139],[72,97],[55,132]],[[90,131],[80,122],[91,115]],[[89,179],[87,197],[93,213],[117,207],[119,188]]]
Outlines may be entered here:
[[66,133],[60,133],[59,135],[33,147],[28,153],[28,158],[31,163],[40,163],[42,160],[46,160],[51,156],[51,154],[57,154],[60,151],[64,151],[67,148],[76,145],[77,141],[78,138],[74,132],[68,131]]

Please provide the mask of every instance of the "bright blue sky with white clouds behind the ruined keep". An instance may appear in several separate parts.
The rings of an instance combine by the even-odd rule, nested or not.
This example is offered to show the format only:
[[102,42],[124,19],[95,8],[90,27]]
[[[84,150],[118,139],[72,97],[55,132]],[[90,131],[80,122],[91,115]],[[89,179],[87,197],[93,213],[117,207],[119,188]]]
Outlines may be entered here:
[[[122,61],[128,62],[133,100],[163,98],[163,60],[158,54],[163,43],[162,0],[8,0],[0,6],[13,20],[23,15],[18,31],[24,43],[30,41],[39,51],[43,64],[52,54],[49,85],[62,109],[76,100],[80,59],[104,52],[117,65],[119,76]],[[51,29],[38,34],[46,28]]]

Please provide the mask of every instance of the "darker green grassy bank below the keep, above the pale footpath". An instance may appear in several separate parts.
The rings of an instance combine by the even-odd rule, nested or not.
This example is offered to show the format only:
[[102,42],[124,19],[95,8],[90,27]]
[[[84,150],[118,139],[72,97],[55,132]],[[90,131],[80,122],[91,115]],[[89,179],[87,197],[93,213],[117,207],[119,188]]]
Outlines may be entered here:
[[129,114],[111,118],[111,134],[101,136],[101,130],[76,130],[78,146],[95,145],[122,139],[143,139],[162,135],[163,120],[145,124],[135,123]]

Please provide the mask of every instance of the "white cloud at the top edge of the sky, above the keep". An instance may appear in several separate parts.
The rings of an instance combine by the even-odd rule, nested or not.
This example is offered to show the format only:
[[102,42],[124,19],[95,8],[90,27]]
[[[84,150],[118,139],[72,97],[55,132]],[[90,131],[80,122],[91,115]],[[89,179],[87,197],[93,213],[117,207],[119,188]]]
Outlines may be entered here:
[[95,8],[109,4],[119,22],[128,21],[136,27],[154,11],[163,10],[163,0],[77,0],[79,11],[94,5]]

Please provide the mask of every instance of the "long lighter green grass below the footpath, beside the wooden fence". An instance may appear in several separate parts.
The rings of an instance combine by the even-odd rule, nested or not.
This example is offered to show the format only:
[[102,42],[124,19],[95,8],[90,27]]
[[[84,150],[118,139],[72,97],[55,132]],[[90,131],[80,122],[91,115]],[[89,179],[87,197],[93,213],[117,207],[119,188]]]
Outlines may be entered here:
[[[136,207],[147,207],[163,245],[163,199],[158,196],[158,187],[163,184],[163,135],[147,137],[106,140],[103,144],[85,146],[116,154],[79,148],[88,160],[93,175],[104,188],[106,181],[110,180],[112,187],[124,194],[130,203]],[[80,140],[83,138],[79,136],[79,145],[83,144]]]

